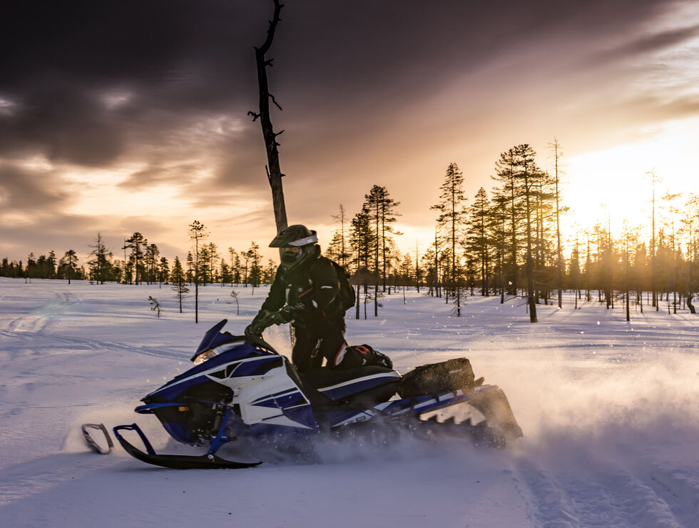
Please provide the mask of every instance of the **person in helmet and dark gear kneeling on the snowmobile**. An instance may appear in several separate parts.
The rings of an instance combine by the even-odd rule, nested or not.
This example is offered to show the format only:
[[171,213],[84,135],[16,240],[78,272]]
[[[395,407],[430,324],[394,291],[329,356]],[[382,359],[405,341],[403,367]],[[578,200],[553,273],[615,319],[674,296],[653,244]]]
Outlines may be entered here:
[[282,229],[270,248],[282,248],[274,283],[246,335],[262,335],[265,328],[291,323],[296,342],[292,362],[305,372],[359,365],[392,367],[392,362],[371,347],[350,347],[345,341],[345,310],[354,305],[354,290],[345,270],[320,254],[317,233],[305,225]]

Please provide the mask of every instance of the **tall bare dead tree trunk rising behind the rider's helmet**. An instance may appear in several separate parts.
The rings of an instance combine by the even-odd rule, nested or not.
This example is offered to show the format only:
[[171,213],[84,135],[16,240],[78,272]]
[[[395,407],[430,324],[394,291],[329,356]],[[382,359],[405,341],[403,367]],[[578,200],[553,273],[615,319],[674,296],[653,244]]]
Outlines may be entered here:
[[270,118],[270,100],[277,106],[280,110],[282,107],[277,103],[275,97],[270,93],[269,83],[267,82],[267,66],[272,66],[272,60],[266,59],[265,55],[267,51],[270,51],[272,47],[272,40],[274,40],[275,31],[277,29],[277,24],[280,21],[280,11],[282,11],[283,4],[280,4],[280,0],[273,0],[275,4],[274,15],[272,20],[270,20],[270,27],[267,29],[267,39],[265,43],[259,48],[255,47],[255,62],[257,63],[257,86],[260,93],[260,112],[248,112],[249,116],[252,116],[252,121],[257,121],[260,119],[260,125],[262,126],[262,136],[265,138],[265,148],[267,150],[267,166],[265,169],[267,171],[267,179],[270,181],[270,187],[272,188],[272,205],[274,206],[275,212],[275,223],[277,224],[277,232],[287,227],[287,212],[286,206],[284,204],[284,190],[282,188],[282,170],[279,164],[279,151],[277,147],[277,136],[279,136],[284,131],[275,132],[274,127],[272,127],[272,120]]

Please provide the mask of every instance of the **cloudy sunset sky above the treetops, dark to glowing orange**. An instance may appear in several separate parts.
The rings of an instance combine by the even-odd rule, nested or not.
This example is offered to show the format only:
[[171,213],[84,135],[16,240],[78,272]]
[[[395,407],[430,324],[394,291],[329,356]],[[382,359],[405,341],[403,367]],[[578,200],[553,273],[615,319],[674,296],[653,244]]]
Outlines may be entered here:
[[[25,1],[0,34],[0,258],[135,231],[183,258],[275,235],[254,46],[272,0]],[[330,241],[374,185],[426,248],[451,162],[466,196],[520,143],[552,168],[566,225],[648,223],[650,181],[699,192],[699,4],[286,0],[269,68],[289,223]],[[268,250],[267,256],[274,252]]]

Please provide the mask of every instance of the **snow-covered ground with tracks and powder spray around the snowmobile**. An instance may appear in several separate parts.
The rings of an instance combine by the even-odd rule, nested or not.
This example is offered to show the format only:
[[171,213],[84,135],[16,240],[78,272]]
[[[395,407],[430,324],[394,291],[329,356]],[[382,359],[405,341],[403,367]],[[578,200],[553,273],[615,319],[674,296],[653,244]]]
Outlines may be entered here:
[[[218,320],[240,332],[266,290],[200,288],[179,314],[170,288],[0,278],[0,526],[699,527],[699,316],[469,298],[385,297],[349,320],[350,343],[399,372],[469,357],[503,388],[524,438],[506,450],[406,437],[389,450],[327,442],[321,462],[254,469],[151,467],[117,447],[88,452],[82,422],[134,421]],[[148,295],[163,305],[160,319]],[[288,332],[265,334],[288,352]],[[191,448],[188,448],[191,449]]]

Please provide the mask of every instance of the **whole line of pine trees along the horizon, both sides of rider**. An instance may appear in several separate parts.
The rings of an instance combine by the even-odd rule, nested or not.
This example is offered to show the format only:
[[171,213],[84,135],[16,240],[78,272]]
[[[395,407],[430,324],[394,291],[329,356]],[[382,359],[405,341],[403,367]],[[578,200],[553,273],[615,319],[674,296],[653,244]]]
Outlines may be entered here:
[[[449,163],[439,200],[431,206],[434,240],[427,248],[417,243],[407,251],[398,248],[395,236],[401,233],[395,224],[400,203],[384,186],[372,186],[353,216],[340,205],[333,217],[339,225],[326,253],[345,267],[357,288],[355,317],[367,318],[370,312],[378,316],[382,297],[406,287],[444,298],[456,316],[469,295],[499,295],[501,303],[523,299],[530,320],[536,322],[537,305],[561,307],[564,290],[576,292],[575,308],[596,298],[608,308],[622,304],[628,316],[631,305],[643,310],[646,292],[646,305],[655,310],[663,305],[670,313],[685,307],[694,313],[692,300],[699,289],[699,196],[690,195],[684,203],[678,193],[657,197],[660,178],[648,173],[650,237],[648,226],[628,224],[614,235],[608,216],[562,240],[560,220],[568,210],[561,205],[562,148],[557,140],[549,143],[549,155],[553,168],[545,171],[528,144],[503,151],[494,163],[493,188],[480,188],[471,199],[464,191],[464,174],[456,163]],[[206,237],[203,225],[196,221],[190,225],[195,250],[188,252],[184,263],[175,257],[171,267],[158,246],[141,233],[124,239],[121,260],[98,233],[89,245],[88,260],[79,267],[74,250],[58,260],[53,251],[39,258],[30,253],[26,265],[5,258],[0,275],[124,284],[170,281],[195,289],[213,283],[255,287],[274,279],[276,264],[272,260],[262,264],[255,242],[248,250],[228,248],[221,255],[215,243],[205,242]]]

